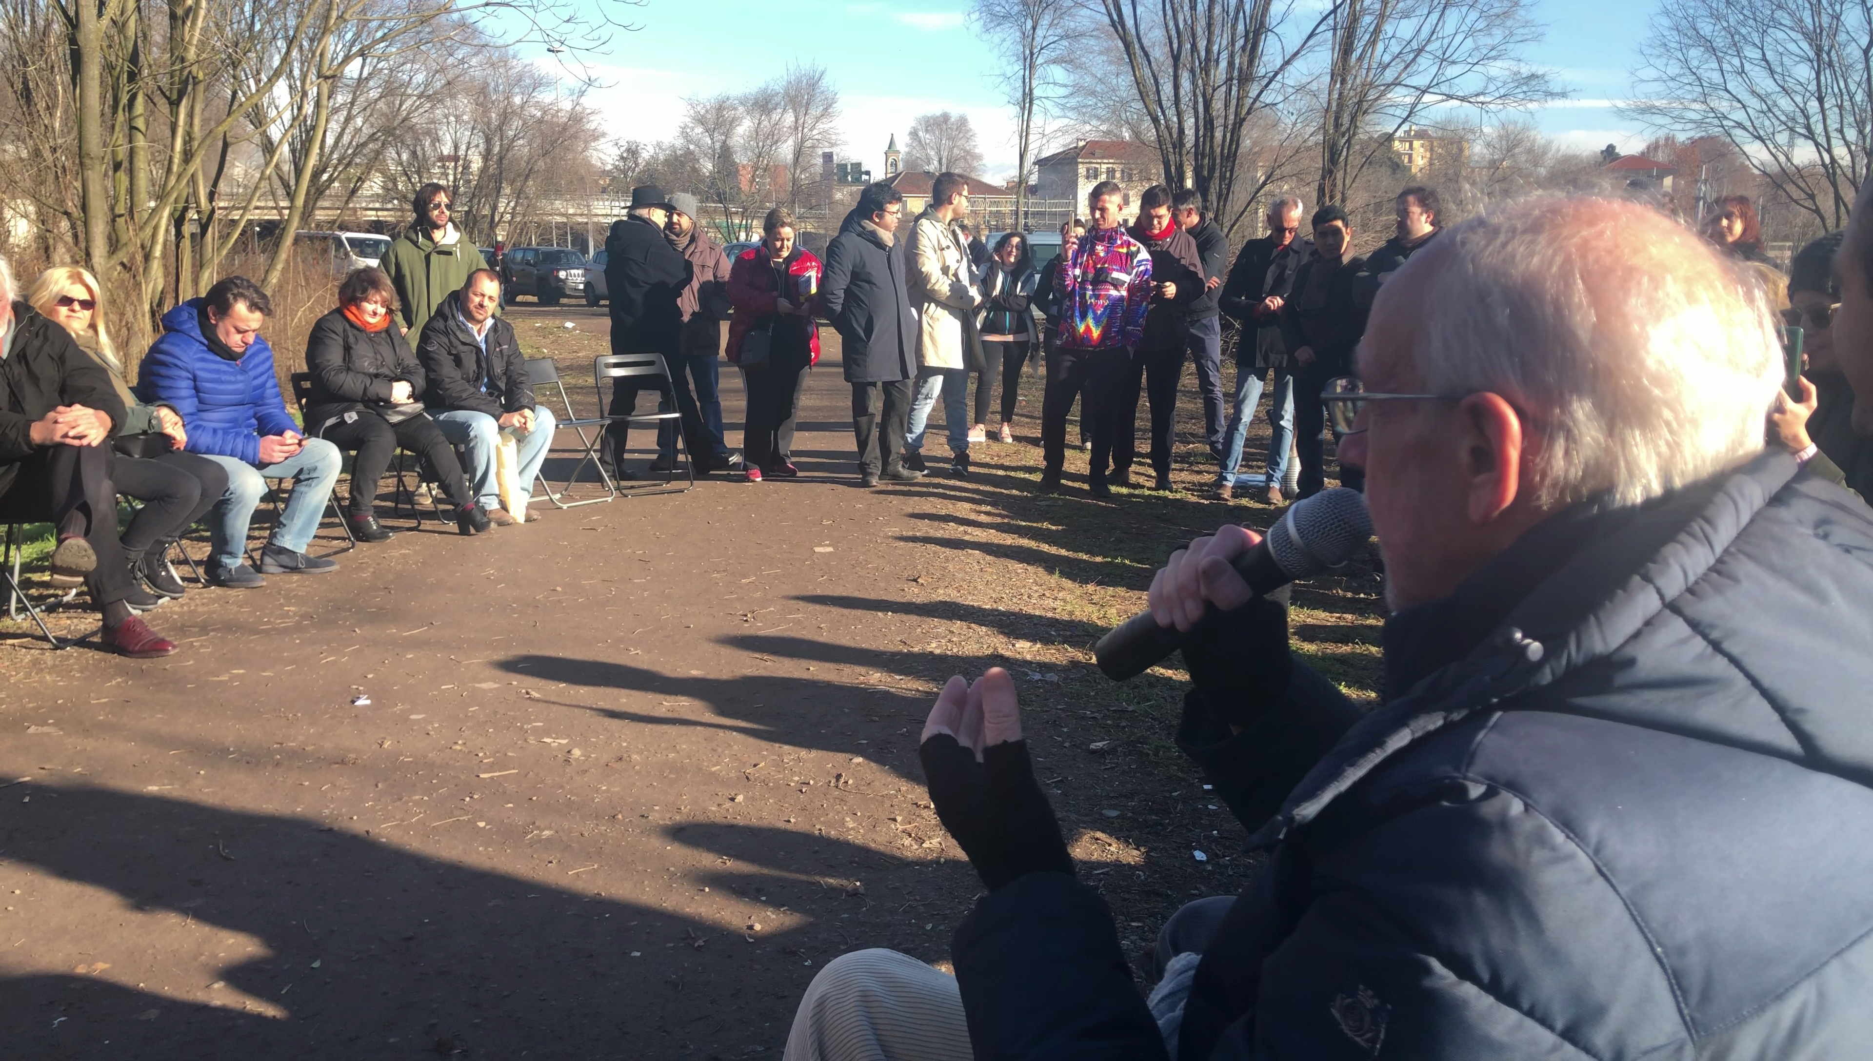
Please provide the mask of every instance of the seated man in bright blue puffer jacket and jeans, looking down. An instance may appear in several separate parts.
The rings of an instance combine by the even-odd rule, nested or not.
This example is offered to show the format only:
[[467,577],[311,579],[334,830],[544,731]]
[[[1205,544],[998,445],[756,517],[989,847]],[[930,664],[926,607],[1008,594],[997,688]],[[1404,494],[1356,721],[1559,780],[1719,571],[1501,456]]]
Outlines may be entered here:
[[189,453],[229,472],[229,492],[210,515],[214,586],[249,589],[266,580],[247,567],[247,524],[266,492],[266,479],[292,479],[292,496],[260,550],[264,574],[317,574],[337,561],[307,556],[318,516],[332,498],[343,455],[322,438],[303,438],[287,414],[273,376],[273,348],[260,326],[273,311],[247,277],[227,277],[206,298],[163,314],[167,333],[137,371],[137,391],[182,414]]

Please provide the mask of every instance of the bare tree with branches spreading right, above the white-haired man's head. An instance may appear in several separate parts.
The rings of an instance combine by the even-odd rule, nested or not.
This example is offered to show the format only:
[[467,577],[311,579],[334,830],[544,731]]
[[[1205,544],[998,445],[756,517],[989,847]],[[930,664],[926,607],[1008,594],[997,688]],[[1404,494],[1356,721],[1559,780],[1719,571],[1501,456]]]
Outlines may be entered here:
[[1320,180],[1341,202],[1392,137],[1427,114],[1495,112],[1560,95],[1547,71],[1521,60],[1540,26],[1526,0],[1337,0],[1320,75]]

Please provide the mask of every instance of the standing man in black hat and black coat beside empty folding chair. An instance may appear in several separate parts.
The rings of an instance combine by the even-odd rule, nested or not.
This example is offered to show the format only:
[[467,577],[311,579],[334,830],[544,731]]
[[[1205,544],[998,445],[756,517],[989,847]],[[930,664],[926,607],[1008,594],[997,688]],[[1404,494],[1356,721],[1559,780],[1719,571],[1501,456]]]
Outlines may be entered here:
[[[689,260],[663,236],[669,219],[671,196],[661,187],[654,183],[633,187],[629,215],[614,221],[605,240],[611,352],[661,354],[665,365],[672,365],[682,352],[680,299],[693,273]],[[639,378],[614,380],[609,415],[635,412],[639,387]],[[695,473],[708,475],[715,470],[715,447],[689,387],[676,387],[676,412],[682,414],[684,449],[691,457]],[[612,472],[618,479],[635,479],[637,473],[624,466],[626,427],[612,423],[605,434],[611,440],[607,449]]]

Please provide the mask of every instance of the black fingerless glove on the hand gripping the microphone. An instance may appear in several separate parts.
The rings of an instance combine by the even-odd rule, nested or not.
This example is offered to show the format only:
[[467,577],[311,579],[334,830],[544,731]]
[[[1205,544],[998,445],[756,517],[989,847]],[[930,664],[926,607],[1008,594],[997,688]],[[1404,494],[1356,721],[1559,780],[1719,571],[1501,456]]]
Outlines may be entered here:
[[1287,696],[1294,657],[1287,631],[1289,588],[1216,612],[1184,636],[1184,666],[1204,705],[1247,726]]

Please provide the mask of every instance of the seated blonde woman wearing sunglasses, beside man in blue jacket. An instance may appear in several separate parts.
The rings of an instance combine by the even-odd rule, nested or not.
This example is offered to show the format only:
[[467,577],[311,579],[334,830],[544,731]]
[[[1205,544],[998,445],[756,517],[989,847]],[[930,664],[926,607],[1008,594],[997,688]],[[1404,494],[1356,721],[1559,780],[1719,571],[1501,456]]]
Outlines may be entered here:
[[221,501],[229,473],[206,457],[184,453],[189,436],[176,410],[139,402],[131,393],[124,363],[105,331],[99,294],[97,277],[88,269],[54,266],[39,273],[26,303],[71,333],[79,350],[111,374],[111,385],[129,410],[124,430],[112,438],[111,481],[120,494],[144,503],[124,528],[120,543],[133,578],[124,603],[133,610],[150,610],[165,597],[182,597],[184,586],[165,558],[176,539]]

